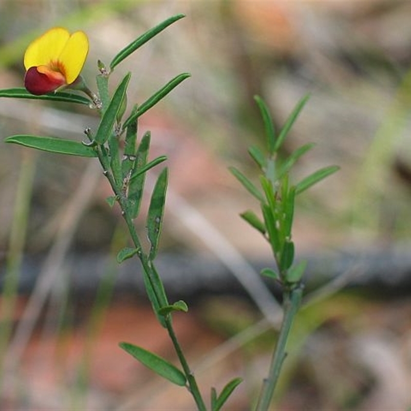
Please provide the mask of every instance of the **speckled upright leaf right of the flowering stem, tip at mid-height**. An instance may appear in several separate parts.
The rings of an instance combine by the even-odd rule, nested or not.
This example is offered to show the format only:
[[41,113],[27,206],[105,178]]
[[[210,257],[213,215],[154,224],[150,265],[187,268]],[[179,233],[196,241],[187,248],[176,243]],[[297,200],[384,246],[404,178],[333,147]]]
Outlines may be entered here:
[[158,241],[163,221],[165,194],[167,190],[168,170],[165,168],[157,178],[147,213],[147,236],[151,243],[150,259],[157,254]]

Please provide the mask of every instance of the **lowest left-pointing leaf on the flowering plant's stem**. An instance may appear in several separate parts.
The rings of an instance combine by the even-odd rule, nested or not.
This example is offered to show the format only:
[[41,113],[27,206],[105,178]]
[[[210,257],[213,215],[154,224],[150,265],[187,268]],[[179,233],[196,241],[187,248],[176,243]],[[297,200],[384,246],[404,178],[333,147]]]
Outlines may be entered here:
[[119,345],[124,351],[131,354],[136,360],[140,361],[141,364],[150,368],[159,376],[179,386],[186,384],[186,378],[183,372],[164,358],[134,344],[120,343]]

